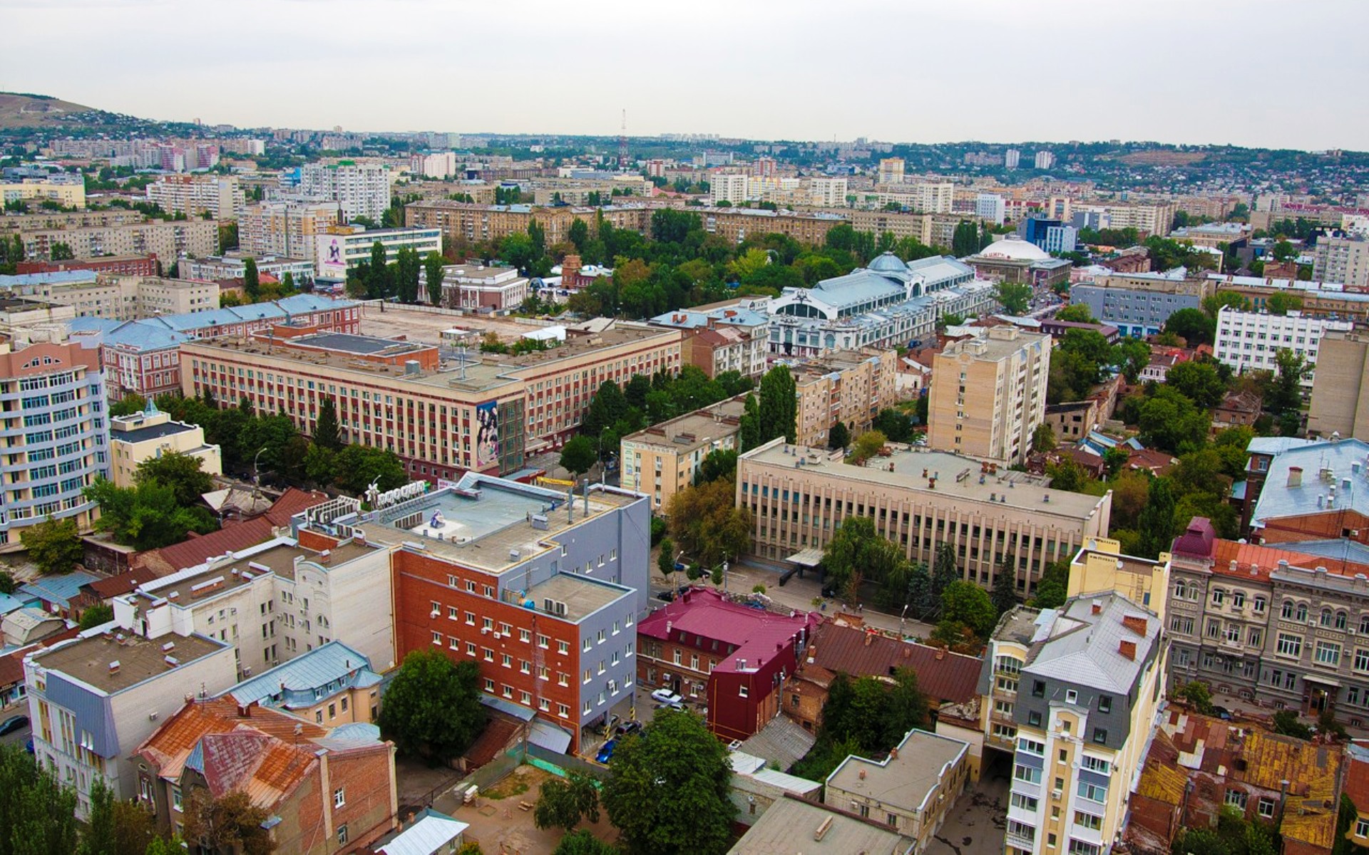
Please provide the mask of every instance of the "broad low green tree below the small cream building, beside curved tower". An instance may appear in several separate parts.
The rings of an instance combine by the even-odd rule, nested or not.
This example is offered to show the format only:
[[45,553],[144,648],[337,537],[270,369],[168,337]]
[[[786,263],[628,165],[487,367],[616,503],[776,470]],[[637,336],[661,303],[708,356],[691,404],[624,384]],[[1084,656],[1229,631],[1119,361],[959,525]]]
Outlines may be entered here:
[[138,550],[162,549],[185,540],[186,532],[208,534],[216,528],[207,509],[179,503],[175,487],[156,479],[115,487],[114,482],[97,477],[82,492],[100,505],[96,528]]

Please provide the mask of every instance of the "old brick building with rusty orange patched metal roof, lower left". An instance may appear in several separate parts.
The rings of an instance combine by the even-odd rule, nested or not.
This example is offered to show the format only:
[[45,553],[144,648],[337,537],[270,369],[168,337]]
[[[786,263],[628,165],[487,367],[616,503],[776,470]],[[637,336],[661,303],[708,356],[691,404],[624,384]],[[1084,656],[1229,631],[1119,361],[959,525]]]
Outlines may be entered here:
[[394,828],[394,746],[372,725],[323,728],[231,698],[192,700],[134,754],[138,802],[179,832],[196,791],[242,791],[278,852],[370,852]]

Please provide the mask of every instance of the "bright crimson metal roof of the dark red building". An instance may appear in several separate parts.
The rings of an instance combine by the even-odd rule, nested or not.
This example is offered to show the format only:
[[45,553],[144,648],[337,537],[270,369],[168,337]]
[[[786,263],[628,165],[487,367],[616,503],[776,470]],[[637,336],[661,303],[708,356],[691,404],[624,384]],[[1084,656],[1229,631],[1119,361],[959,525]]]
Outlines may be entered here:
[[737,673],[756,670],[775,654],[778,646],[802,639],[816,629],[820,620],[813,611],[776,614],[730,602],[712,588],[690,588],[639,621],[637,635],[672,640],[680,640],[682,635],[716,639],[732,650],[713,670]]

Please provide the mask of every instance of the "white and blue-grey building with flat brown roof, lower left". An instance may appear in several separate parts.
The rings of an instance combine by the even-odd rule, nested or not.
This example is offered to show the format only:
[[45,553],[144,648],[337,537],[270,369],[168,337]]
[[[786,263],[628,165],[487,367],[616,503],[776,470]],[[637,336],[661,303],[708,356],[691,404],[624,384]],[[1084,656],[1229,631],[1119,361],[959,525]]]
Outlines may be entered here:
[[33,752],[75,789],[78,818],[97,777],[116,799],[138,795],[133,752],[186,695],[237,683],[233,657],[227,642],[186,629],[156,640],[90,629],[25,658]]

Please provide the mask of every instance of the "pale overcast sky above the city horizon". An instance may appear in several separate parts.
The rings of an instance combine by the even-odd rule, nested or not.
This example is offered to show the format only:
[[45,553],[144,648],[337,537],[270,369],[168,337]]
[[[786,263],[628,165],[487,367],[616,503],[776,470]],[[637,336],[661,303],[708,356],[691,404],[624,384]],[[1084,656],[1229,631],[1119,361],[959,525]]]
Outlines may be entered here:
[[1369,149],[1366,0],[0,0],[0,90],[244,127]]

